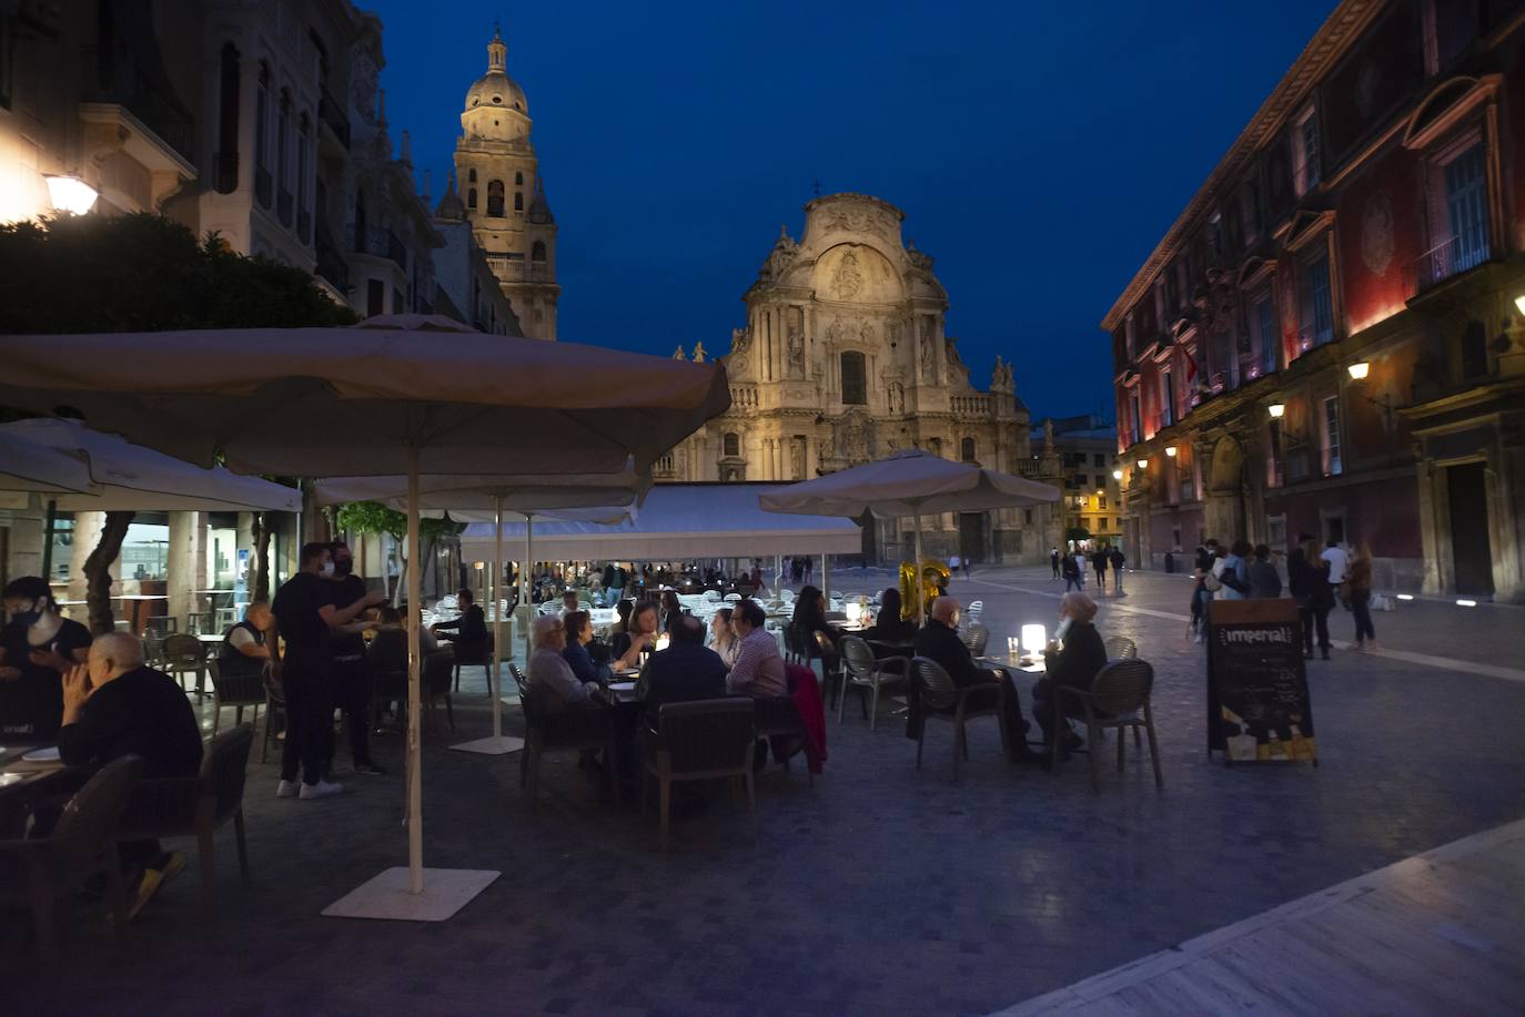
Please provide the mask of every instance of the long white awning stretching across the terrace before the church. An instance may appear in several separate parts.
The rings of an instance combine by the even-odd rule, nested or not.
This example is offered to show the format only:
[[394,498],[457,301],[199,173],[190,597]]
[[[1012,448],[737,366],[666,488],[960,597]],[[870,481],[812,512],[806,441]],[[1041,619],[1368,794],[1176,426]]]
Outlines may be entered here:
[[[863,532],[848,518],[764,512],[758,496],[787,483],[659,483],[634,521],[618,526],[535,520],[537,561],[682,561],[769,555],[856,555]],[[525,525],[503,525],[505,552],[517,560]],[[493,557],[493,525],[461,535],[467,560]]]

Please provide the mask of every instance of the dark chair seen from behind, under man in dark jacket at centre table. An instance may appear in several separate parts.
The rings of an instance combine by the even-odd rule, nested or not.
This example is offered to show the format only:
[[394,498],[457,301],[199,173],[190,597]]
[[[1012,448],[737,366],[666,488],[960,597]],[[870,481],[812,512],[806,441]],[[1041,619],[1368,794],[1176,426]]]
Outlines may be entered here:
[[732,779],[746,785],[747,814],[756,833],[756,793],[752,782],[752,746],[756,741],[756,703],[743,695],[692,703],[665,703],[657,730],[647,738],[640,811],[647,805],[647,776],[657,781],[662,814],[662,849],[671,842],[673,784]]

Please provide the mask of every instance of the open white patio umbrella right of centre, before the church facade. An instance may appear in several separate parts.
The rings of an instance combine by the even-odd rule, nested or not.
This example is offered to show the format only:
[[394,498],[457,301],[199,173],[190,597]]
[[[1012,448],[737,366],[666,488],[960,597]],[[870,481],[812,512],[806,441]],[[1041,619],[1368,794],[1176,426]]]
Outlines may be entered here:
[[982,512],[1058,502],[1058,488],[1048,483],[909,448],[878,462],[791,483],[782,491],[764,494],[758,502],[769,512],[854,518],[863,512],[872,512],[880,518],[912,517],[918,584],[917,619],[924,621],[926,598],[920,593],[924,514]]

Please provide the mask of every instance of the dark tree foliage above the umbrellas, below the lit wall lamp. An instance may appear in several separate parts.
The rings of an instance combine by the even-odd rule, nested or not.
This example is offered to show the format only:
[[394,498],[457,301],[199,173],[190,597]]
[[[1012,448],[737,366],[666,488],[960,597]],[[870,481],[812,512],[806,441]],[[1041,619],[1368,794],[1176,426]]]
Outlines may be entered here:
[[352,325],[300,268],[137,212],[0,226],[0,334]]

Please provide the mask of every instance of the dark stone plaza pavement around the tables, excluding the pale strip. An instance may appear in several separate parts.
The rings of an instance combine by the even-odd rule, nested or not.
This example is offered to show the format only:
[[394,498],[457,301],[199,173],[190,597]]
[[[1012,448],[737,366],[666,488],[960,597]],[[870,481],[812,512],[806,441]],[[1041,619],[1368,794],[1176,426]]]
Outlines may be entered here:
[[[999,640],[1052,624],[1060,584],[1046,572],[982,570],[953,593],[985,602]],[[833,581],[866,589],[886,573]],[[220,834],[215,926],[195,919],[197,863],[180,842],[186,872],[125,951],[82,910],[70,974],[43,977],[24,918],[9,919],[0,985],[30,1009],[113,1014],[987,1012],[1525,816],[1519,608],[1379,614],[1394,656],[1312,662],[1321,767],[1231,770],[1205,758],[1185,579],[1130,573],[1127,587],[1103,598],[1100,624],[1157,668],[1164,793],[1132,746],[1100,796],[1083,759],[1058,776],[1008,767],[993,721],[974,726],[955,785],[946,726],[930,729],[918,773],[901,726],[869,732],[849,711],[828,727],[814,788],[798,767],[762,778],[755,839],[721,797],[677,823],[663,857],[654,817],[602,804],[575,759],[547,759],[531,814],[517,755],[448,752],[488,733],[480,706],[462,706],[454,735],[425,739],[425,863],[503,877],[450,922],[319,916],[406,861],[400,776],[276,800],[274,767],[253,764],[253,887]],[[1334,627],[1348,636],[1350,616]],[[400,770],[400,739],[378,746]]]

